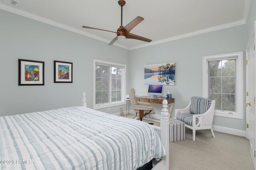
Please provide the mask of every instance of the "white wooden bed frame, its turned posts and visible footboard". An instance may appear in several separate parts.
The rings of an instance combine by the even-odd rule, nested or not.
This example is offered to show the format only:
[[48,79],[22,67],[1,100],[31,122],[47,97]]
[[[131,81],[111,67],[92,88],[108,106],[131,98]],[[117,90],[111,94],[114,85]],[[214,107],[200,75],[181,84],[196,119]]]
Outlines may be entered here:
[[[164,159],[160,160],[153,168],[152,170],[169,170],[169,119],[168,119],[168,109],[167,106],[168,102],[167,100],[163,101],[163,109],[161,112],[162,118],[160,120],[160,127],[154,126],[154,129],[160,136],[160,139],[166,149],[166,156]],[[86,96],[85,92],[83,93],[82,98],[82,106],[87,107],[86,105]]]

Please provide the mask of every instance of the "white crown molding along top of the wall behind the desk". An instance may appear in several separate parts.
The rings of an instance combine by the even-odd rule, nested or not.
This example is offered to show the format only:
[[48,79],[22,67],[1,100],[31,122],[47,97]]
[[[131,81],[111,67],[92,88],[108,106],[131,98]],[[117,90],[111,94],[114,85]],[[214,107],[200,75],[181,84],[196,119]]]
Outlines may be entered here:
[[228,28],[228,27],[234,27],[234,26],[237,26],[237,25],[245,24],[245,23],[246,22],[244,20],[239,20],[239,21],[234,21],[234,22],[230,22],[230,23],[225,23],[225,24],[218,25],[218,26],[215,26],[215,27],[201,29],[201,30],[198,30],[198,31],[194,31],[194,32],[190,32],[190,33],[185,33],[185,34],[177,35],[177,36],[174,36],[174,37],[170,37],[170,38],[166,38],[166,39],[161,39],[161,40],[158,40],[158,41],[153,41],[153,42],[150,42],[150,43],[147,43],[147,44],[137,45],[137,46],[131,47],[130,50],[139,49],[139,48],[142,48],[142,47],[147,47],[147,46],[150,46],[150,45],[156,45],[156,44],[160,44],[160,43],[166,43],[168,41],[174,41],[174,40],[177,40],[177,39],[191,37],[191,36],[194,36],[194,35],[208,33],[208,32],[211,32],[211,31],[217,31],[217,30],[220,30],[220,29],[224,29],[224,28]]

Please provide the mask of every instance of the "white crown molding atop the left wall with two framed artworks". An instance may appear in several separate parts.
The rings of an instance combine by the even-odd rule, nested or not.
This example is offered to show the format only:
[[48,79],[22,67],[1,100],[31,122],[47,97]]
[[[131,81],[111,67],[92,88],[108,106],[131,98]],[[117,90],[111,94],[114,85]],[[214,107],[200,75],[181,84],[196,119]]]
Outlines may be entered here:
[[[47,18],[44,18],[44,17],[41,17],[41,16],[38,16],[38,15],[35,15],[35,14],[32,14],[30,12],[26,12],[24,10],[20,10],[18,8],[15,8],[15,7],[12,7],[12,6],[9,6],[7,4],[3,4],[0,2],[0,9],[2,10],[6,10],[8,12],[12,12],[14,14],[18,14],[20,16],[24,16],[24,17],[27,17],[27,18],[30,18],[30,19],[33,19],[33,20],[37,20],[37,21],[40,21],[40,22],[43,22],[43,23],[47,23],[49,25],[53,25],[55,27],[59,27],[59,28],[62,28],[62,29],[66,29],[68,31],[72,31],[74,33],[78,33],[78,34],[81,34],[81,35],[85,35],[87,37],[90,37],[90,38],[93,38],[93,39],[97,39],[97,40],[100,40],[100,41],[103,41],[105,43],[110,43],[110,41],[108,39],[105,39],[105,38],[102,38],[102,37],[99,37],[97,35],[94,35],[94,34],[91,34],[91,33],[88,33],[86,31],[82,31],[80,29],[77,29],[77,28],[74,28],[74,27],[70,27],[68,25],[65,25],[65,24],[62,24],[62,23],[59,23],[59,22],[56,22],[56,21],[53,21],[53,20],[49,20]],[[121,44],[118,44],[118,43],[115,43],[115,46],[118,46],[118,47],[121,47],[121,48],[124,48],[124,49],[128,49],[129,50],[129,47],[126,47],[124,45],[121,45]]]

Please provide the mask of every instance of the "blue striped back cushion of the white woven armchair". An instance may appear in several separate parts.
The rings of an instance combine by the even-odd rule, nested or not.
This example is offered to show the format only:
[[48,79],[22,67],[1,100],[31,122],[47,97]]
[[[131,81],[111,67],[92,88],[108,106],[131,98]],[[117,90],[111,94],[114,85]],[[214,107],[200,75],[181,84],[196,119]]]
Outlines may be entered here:
[[203,114],[211,106],[212,100],[200,97],[192,97],[190,104],[190,113],[191,114]]

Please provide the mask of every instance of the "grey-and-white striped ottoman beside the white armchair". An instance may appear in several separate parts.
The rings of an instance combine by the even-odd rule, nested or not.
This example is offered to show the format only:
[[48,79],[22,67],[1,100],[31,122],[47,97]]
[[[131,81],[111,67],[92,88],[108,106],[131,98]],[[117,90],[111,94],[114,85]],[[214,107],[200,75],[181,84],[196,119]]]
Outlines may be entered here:
[[169,119],[170,142],[185,140],[185,123],[177,119]]

